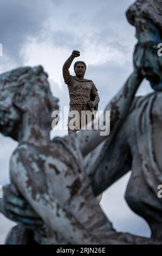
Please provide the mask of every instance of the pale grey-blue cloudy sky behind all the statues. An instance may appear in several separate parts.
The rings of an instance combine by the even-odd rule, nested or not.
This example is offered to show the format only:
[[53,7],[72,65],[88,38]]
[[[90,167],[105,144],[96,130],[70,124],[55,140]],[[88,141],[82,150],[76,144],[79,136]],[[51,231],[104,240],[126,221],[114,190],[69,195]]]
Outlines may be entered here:
[[[63,83],[62,65],[73,50],[81,52],[87,64],[86,78],[94,81],[100,94],[99,109],[106,106],[133,70],[134,28],[125,11],[133,0],[1,0],[0,73],[24,65],[43,65],[51,91],[60,99],[60,109],[69,104]],[[77,59],[77,60],[79,60]],[[73,74],[73,68],[70,69]],[[146,82],[138,94],[151,92]],[[66,135],[53,131],[51,136]],[[0,184],[9,182],[9,158],[16,142],[0,135]],[[144,220],[126,205],[127,174],[109,188],[101,206],[120,231],[149,236]],[[14,223],[0,214],[0,243]]]

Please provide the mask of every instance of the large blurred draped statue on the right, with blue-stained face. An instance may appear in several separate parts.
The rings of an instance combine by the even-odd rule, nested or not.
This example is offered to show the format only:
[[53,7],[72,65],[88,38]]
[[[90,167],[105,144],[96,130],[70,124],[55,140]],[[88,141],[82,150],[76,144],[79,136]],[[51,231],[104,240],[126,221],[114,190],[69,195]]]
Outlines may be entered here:
[[158,197],[158,186],[162,184],[162,57],[157,54],[157,46],[162,42],[161,14],[161,0],[140,0],[127,11],[128,21],[135,26],[138,39],[134,66],[155,92],[135,97],[113,141],[107,140],[100,155],[97,151],[90,155],[95,161],[87,163],[95,194],[132,170],[126,201],[150,225],[151,237],[159,240],[162,240],[162,198]]

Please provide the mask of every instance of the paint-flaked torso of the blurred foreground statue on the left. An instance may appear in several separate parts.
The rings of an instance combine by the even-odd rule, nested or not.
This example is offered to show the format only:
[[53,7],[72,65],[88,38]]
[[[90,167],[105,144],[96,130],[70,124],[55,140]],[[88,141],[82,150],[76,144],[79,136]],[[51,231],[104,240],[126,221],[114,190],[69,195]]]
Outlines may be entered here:
[[55,138],[47,146],[22,143],[11,162],[12,182],[23,196],[26,191],[24,197],[37,214],[42,218],[50,216],[53,223],[53,228],[45,225],[47,237],[41,229],[35,229],[38,243],[66,244],[69,239],[74,243],[80,239],[96,243],[96,237],[105,243],[107,236],[100,226],[108,232],[113,230],[112,225],[94,198],[75,135]]

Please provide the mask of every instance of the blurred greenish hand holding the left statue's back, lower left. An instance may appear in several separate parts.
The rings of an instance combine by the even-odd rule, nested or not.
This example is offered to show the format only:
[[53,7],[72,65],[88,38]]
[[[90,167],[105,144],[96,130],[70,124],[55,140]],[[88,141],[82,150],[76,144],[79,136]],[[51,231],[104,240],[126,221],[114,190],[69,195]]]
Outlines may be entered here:
[[3,187],[3,207],[1,212],[11,221],[22,223],[30,228],[43,225],[41,218],[21,196],[14,185]]

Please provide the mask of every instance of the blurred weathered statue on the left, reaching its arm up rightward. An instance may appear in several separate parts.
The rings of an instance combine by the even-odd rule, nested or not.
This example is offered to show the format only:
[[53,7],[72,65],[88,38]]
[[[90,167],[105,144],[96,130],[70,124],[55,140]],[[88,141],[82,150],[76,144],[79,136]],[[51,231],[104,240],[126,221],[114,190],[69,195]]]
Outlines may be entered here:
[[[141,80],[134,72],[106,107],[116,106],[112,109],[112,133],[125,117]],[[51,109],[58,106],[41,66],[1,75],[0,92],[0,131],[19,143],[10,161],[12,184],[44,223],[34,229],[34,240],[85,244],[149,242],[116,233],[93,195],[83,157],[105,139],[100,130],[80,131],[50,142]],[[19,232],[21,237],[24,232],[28,234],[21,226],[12,231],[12,238]]]

